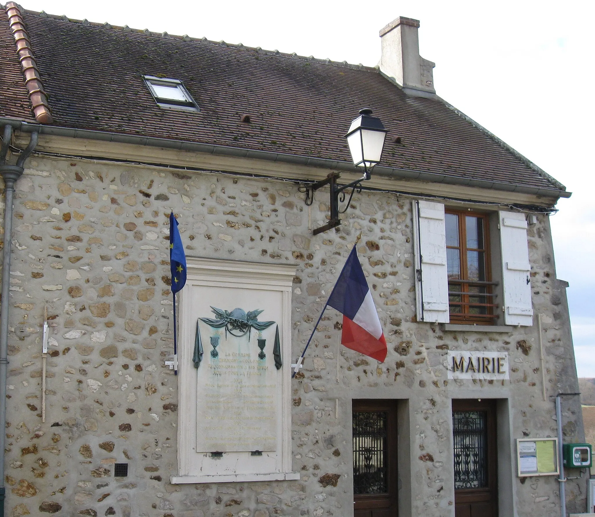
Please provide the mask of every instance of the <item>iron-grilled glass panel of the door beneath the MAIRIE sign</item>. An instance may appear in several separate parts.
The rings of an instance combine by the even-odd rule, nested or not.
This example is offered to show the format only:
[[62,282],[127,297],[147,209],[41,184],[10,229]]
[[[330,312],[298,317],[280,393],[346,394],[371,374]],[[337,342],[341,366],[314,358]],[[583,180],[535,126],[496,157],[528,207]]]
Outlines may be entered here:
[[453,411],[455,488],[488,486],[487,412]]

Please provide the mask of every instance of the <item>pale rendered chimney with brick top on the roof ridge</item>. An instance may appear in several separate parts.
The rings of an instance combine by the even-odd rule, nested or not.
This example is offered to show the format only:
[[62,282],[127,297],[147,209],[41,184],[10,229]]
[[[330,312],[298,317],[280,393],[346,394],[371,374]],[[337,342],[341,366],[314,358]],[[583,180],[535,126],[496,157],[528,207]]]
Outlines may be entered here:
[[419,55],[419,20],[399,17],[380,30],[380,71],[409,95],[434,97],[433,62]]

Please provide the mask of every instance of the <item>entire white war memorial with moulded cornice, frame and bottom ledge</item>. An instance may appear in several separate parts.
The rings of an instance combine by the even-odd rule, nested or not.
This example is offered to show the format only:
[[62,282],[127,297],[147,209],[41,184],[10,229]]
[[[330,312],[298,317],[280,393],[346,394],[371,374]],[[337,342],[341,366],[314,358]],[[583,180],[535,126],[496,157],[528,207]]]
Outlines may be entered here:
[[298,480],[292,470],[295,265],[186,257],[178,483]]

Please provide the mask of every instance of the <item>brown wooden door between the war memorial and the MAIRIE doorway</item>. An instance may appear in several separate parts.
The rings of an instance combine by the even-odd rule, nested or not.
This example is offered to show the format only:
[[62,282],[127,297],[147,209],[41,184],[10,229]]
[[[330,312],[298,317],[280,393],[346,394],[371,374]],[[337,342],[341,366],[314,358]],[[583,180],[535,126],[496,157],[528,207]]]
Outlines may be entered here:
[[353,400],[353,515],[397,517],[397,408]]

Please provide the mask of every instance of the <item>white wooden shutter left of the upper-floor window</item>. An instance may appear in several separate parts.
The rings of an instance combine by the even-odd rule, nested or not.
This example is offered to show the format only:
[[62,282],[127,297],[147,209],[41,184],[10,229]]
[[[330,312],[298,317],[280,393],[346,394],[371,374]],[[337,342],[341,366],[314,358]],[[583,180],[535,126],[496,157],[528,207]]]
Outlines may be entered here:
[[444,205],[419,200],[413,208],[417,319],[448,323]]

